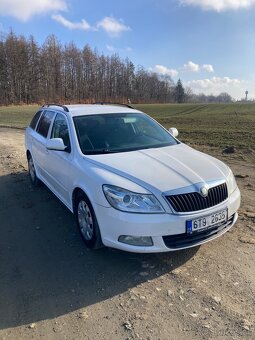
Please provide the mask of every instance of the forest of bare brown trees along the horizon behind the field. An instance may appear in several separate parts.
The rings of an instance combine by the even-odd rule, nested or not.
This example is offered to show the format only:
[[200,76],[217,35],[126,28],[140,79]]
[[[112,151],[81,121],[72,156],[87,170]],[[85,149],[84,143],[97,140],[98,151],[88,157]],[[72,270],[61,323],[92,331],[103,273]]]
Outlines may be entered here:
[[105,56],[90,46],[62,45],[50,35],[39,46],[33,36],[10,32],[0,38],[0,104],[231,102],[227,93],[195,95],[118,54]]

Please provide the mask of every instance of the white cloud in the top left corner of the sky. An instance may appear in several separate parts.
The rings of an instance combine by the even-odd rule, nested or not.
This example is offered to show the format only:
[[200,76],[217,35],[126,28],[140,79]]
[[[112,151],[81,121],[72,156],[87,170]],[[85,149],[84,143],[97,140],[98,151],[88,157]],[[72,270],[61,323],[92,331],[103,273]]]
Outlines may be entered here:
[[0,14],[27,21],[36,14],[67,10],[66,0],[1,0]]

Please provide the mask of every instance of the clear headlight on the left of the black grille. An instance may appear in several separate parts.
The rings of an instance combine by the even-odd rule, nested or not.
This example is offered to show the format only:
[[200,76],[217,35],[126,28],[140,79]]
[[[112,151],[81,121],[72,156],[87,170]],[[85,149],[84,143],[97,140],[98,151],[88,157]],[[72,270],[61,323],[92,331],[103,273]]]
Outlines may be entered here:
[[115,209],[144,214],[165,212],[152,194],[138,194],[114,185],[103,185],[103,191],[107,201]]

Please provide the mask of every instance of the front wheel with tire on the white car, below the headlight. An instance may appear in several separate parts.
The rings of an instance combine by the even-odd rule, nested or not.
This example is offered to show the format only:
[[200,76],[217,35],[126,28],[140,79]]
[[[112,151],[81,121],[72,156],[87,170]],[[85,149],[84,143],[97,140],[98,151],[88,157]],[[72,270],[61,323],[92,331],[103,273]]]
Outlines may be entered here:
[[90,249],[103,247],[101,234],[93,207],[83,193],[80,193],[75,200],[75,218],[81,237]]

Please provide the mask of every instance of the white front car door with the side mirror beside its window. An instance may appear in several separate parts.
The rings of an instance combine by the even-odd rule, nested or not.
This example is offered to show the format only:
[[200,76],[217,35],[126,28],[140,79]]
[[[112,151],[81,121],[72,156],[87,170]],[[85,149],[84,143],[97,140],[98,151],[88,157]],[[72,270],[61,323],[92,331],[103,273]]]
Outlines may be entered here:
[[47,150],[45,170],[49,177],[49,184],[54,193],[68,206],[69,192],[72,186],[71,162],[73,152],[70,141],[68,122],[64,114],[57,113],[48,138],[62,138],[66,146],[65,151]]

